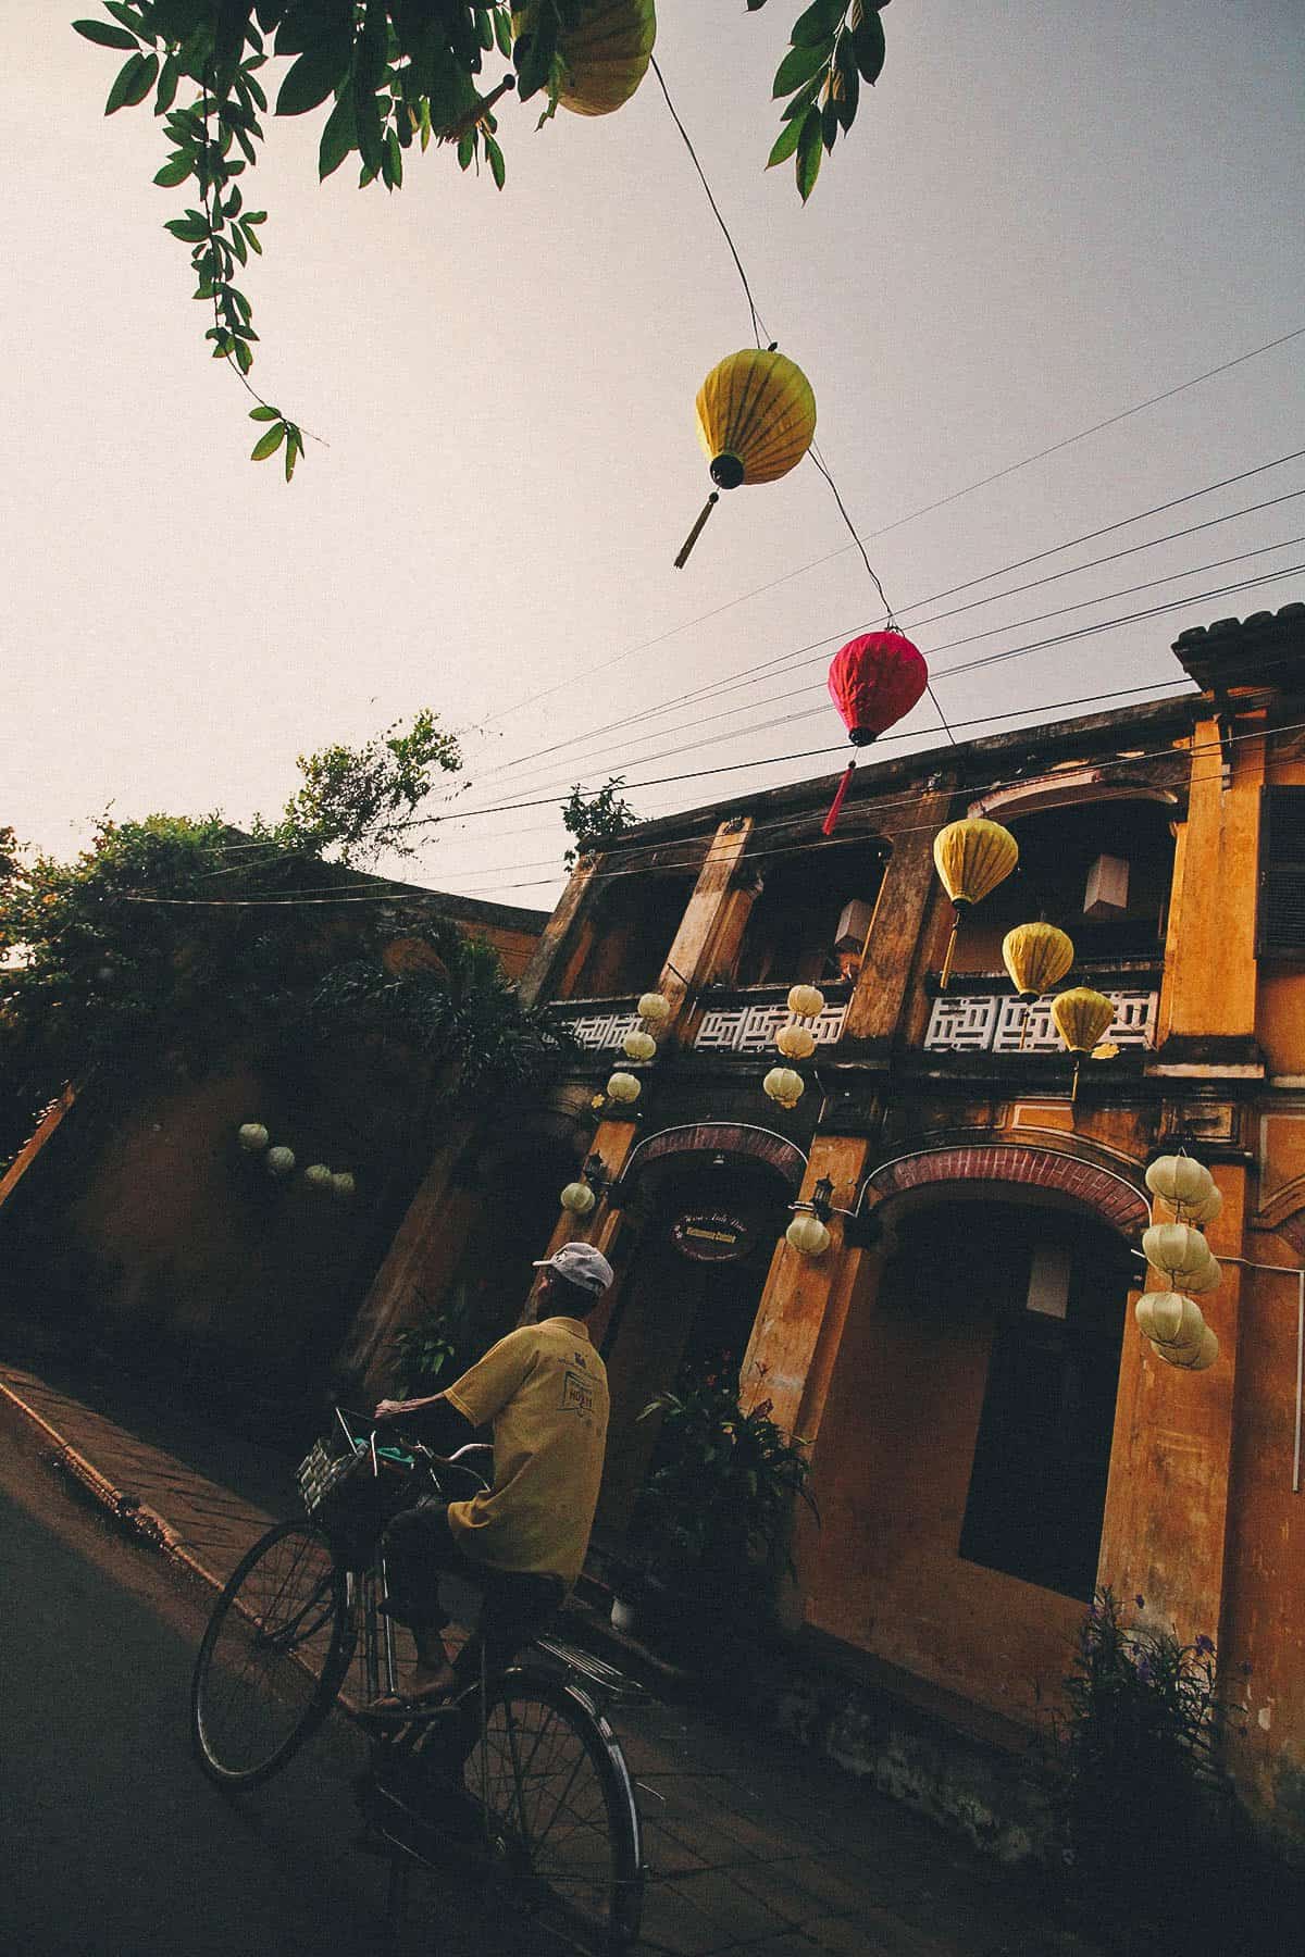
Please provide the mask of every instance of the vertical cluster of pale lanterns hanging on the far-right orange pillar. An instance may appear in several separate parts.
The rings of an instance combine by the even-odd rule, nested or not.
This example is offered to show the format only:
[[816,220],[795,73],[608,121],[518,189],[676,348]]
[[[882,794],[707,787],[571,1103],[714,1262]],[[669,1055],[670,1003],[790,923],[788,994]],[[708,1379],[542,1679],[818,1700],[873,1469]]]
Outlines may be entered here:
[[1152,1223],[1143,1231],[1147,1264],[1170,1280],[1170,1290],[1145,1292],[1133,1315],[1166,1366],[1205,1372],[1219,1358],[1219,1339],[1192,1294],[1213,1292],[1223,1276],[1199,1229],[1199,1223],[1213,1223],[1219,1215],[1223,1196],[1209,1168],[1190,1155],[1156,1157],[1147,1170],[1147,1188],[1174,1211],[1172,1223]]

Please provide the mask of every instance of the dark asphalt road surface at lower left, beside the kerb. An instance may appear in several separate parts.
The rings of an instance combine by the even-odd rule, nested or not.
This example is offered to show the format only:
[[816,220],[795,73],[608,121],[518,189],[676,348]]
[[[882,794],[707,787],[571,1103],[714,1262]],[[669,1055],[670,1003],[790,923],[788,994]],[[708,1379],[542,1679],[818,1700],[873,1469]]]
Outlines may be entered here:
[[[258,1793],[209,1787],[186,1734],[203,1607],[8,1436],[0,1570],[4,1957],[383,1947],[385,1869],[352,1845],[352,1736],[313,1742]],[[440,1957],[495,1945],[466,1902],[403,1939]]]

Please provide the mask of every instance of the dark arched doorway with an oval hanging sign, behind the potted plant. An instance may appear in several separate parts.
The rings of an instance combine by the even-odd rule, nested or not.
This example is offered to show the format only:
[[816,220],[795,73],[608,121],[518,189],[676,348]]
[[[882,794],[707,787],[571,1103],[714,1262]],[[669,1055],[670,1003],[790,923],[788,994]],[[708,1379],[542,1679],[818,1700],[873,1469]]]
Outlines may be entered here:
[[[792,1151],[798,1157],[800,1153]],[[595,1540],[624,1540],[657,1442],[648,1403],[689,1378],[734,1372],[751,1337],[792,1184],[734,1149],[671,1149],[640,1164],[603,1335],[612,1413]]]

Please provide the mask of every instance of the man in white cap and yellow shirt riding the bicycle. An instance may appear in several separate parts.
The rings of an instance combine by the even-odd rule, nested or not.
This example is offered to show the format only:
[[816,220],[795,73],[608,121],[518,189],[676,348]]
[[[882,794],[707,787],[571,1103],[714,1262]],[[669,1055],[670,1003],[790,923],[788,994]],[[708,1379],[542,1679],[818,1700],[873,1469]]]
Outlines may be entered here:
[[585,1319],[610,1286],[612,1266],[591,1243],[565,1243],[536,1270],[534,1325],[499,1339],[446,1391],[376,1407],[378,1421],[403,1423],[440,1454],[466,1446],[477,1427],[493,1427],[489,1489],[452,1503],[430,1495],[385,1530],[385,1611],[411,1628],[417,1663],[407,1695],[374,1703],[382,1718],[421,1710],[464,1683],[442,1636],[442,1573],[483,1591],[477,1636],[497,1671],[581,1571],[608,1413],[607,1370]]

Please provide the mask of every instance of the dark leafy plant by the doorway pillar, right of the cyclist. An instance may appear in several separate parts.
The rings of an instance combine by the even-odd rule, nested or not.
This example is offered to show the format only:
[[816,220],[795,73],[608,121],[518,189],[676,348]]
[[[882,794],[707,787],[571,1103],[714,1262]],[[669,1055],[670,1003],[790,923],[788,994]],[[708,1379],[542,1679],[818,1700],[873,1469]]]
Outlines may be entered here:
[[661,1433],[636,1513],[642,1601],[673,1644],[700,1648],[704,1628],[736,1644],[771,1618],[794,1499],[816,1513],[810,1462],[769,1401],[742,1409],[730,1374],[659,1393],[640,1419],[653,1415]]

